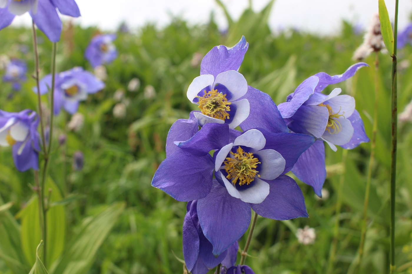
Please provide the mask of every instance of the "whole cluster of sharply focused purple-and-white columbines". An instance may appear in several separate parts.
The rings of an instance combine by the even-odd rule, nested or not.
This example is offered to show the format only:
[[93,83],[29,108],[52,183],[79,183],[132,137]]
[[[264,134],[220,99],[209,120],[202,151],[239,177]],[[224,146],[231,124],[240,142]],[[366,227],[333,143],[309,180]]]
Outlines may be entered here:
[[[215,46],[203,58],[201,75],[187,90],[199,110],[171,126],[166,159],[152,180],[152,186],[188,202],[183,251],[192,273],[206,273],[231,253],[248,229],[250,208],[275,220],[308,216],[299,186],[285,174],[294,172],[321,195],[323,141],[334,150],[368,141],[354,99],[339,95],[340,89],[321,93],[365,63],[342,75],[310,77],[278,109],[238,72],[247,49],[242,37],[232,48]],[[224,270],[253,273],[233,264]]]

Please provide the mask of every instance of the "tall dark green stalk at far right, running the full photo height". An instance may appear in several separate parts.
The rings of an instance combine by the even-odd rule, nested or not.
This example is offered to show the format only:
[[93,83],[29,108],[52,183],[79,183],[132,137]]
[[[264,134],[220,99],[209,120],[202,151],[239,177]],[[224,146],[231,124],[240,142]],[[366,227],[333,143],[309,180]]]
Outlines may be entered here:
[[391,248],[390,248],[390,272],[396,271],[395,263],[395,189],[396,189],[396,146],[398,141],[398,84],[396,75],[396,40],[398,36],[398,0],[395,4],[395,31],[393,33],[392,56],[392,122],[391,122]]

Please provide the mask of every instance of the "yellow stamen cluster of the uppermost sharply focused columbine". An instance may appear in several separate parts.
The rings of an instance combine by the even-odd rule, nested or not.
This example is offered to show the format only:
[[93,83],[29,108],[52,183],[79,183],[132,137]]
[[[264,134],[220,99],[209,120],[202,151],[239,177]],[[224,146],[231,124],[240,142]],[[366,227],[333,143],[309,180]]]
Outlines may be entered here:
[[205,90],[204,92],[205,95],[202,97],[197,96],[197,98],[199,98],[199,109],[202,114],[223,121],[229,119],[229,113],[227,113],[227,111],[230,111],[229,104],[231,104],[231,102],[227,102],[226,94],[218,92],[217,89],[207,93]]

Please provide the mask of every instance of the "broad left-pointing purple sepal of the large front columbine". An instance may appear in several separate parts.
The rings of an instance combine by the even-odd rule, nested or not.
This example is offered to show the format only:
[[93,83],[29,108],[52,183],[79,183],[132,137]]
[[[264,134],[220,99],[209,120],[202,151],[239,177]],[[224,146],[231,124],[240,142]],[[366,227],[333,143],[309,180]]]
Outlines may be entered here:
[[180,202],[198,200],[210,192],[214,168],[210,155],[198,157],[180,149],[159,165],[152,186]]

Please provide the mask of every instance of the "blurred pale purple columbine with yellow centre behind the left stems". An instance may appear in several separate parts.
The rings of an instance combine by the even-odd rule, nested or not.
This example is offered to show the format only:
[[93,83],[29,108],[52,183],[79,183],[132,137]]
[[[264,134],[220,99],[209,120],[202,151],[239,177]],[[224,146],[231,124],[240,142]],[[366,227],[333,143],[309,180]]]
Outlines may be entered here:
[[[52,86],[52,75],[48,74],[40,80],[40,94],[45,94]],[[96,93],[105,84],[82,67],[56,74],[54,86],[54,114],[59,114],[63,107],[70,114],[79,108],[79,101],[87,99],[89,93]],[[37,92],[37,88],[33,88]]]

